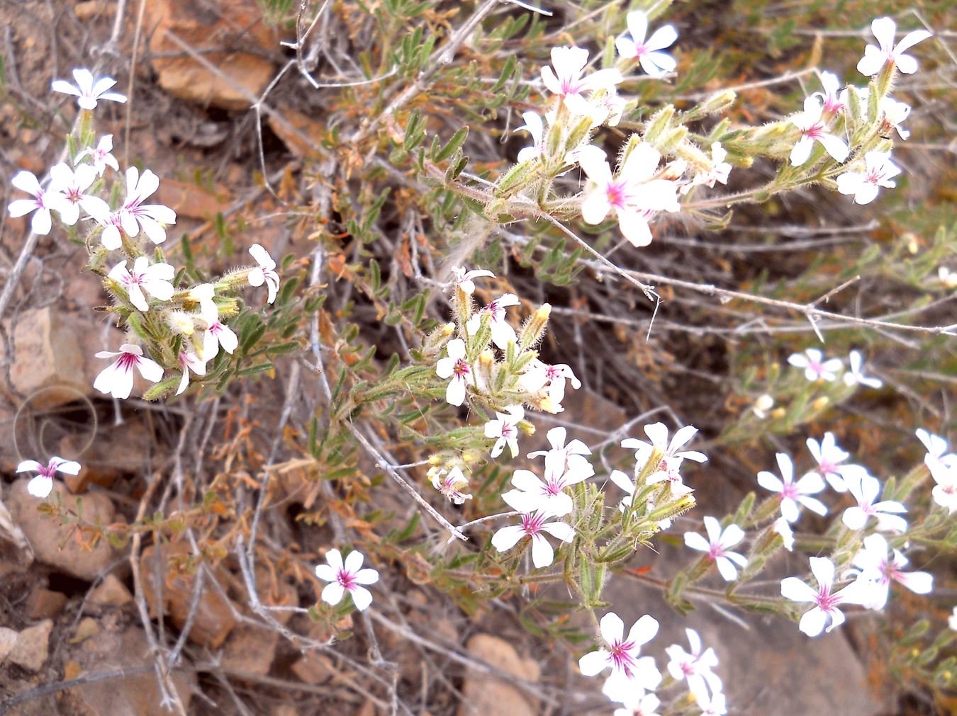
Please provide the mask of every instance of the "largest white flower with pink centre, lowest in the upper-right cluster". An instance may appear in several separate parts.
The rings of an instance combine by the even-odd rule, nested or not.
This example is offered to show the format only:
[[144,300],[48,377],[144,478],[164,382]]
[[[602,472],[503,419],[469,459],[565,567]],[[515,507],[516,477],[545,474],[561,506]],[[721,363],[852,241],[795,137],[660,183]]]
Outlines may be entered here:
[[633,246],[648,246],[652,242],[648,228],[652,213],[681,208],[678,184],[655,178],[660,160],[657,149],[641,142],[625,158],[615,177],[602,149],[593,144],[582,147],[578,151],[578,163],[589,179],[582,200],[585,223],[601,224],[613,211],[625,238]]

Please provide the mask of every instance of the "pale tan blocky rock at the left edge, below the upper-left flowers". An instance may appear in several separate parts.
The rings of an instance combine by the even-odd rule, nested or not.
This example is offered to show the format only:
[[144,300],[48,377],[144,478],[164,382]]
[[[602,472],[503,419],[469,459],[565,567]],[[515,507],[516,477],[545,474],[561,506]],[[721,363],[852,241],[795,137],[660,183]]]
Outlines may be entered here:
[[[0,381],[11,401],[29,401],[33,409],[44,410],[93,394],[77,359],[82,355],[77,328],[67,316],[47,306],[20,314],[12,328],[11,384]],[[10,331],[10,320],[4,329]]]

